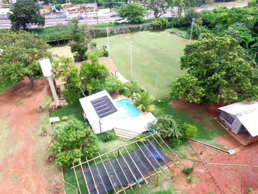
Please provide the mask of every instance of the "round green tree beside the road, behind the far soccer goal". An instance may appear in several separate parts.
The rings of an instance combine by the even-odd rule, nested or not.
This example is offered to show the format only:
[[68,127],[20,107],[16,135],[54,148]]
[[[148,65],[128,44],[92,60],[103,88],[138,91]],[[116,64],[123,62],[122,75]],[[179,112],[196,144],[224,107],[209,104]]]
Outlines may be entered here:
[[118,17],[127,19],[131,23],[142,23],[146,8],[140,3],[123,4],[118,10]]

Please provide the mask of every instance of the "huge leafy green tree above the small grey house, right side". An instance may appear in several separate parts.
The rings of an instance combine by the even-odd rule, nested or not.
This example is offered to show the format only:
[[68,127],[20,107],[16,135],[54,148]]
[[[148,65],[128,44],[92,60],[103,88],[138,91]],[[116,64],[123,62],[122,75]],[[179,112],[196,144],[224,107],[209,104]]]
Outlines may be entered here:
[[173,83],[171,97],[194,103],[258,100],[257,65],[246,60],[246,51],[232,36],[203,38],[186,45],[181,75]]

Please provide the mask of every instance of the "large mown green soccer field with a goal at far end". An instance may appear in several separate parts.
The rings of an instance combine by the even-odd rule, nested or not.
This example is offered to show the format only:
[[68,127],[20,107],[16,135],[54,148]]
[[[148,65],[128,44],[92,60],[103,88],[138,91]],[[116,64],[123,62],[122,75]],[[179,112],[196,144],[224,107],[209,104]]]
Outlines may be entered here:
[[[110,57],[119,72],[130,80],[130,48],[133,42],[133,80],[137,80],[150,93],[155,94],[156,77],[157,97],[168,96],[171,92],[173,80],[186,73],[179,68],[179,60],[183,55],[184,41],[168,36],[165,32],[143,31],[130,36],[109,37]],[[97,46],[107,44],[107,38],[96,39]],[[72,57],[69,46],[52,47],[52,53]]]

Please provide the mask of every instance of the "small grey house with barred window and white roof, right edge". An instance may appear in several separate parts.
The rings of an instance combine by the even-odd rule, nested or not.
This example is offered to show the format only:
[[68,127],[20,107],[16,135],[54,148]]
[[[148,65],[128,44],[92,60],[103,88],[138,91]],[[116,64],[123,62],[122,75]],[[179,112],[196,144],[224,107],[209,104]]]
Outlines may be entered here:
[[219,121],[244,145],[258,141],[258,102],[236,102],[220,107]]

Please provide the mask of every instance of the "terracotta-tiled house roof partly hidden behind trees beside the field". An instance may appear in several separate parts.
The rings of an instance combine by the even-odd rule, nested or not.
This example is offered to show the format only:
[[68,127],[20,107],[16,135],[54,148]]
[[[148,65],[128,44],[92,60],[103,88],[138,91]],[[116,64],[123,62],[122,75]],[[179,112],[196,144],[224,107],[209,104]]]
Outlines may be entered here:
[[[77,67],[78,69],[81,68],[81,64],[82,64],[83,61],[79,61],[79,62],[74,62],[74,63],[71,63],[71,65],[74,65],[75,67]],[[88,63],[91,63],[91,60],[87,60],[86,62]],[[113,74],[114,72],[118,71],[116,65],[114,64],[114,62],[112,61],[111,58],[109,57],[100,57],[98,58],[98,62],[102,65],[104,65],[107,70],[109,71],[110,74]],[[63,78],[58,78],[58,79],[55,79],[55,84],[57,86],[59,85],[62,85],[62,84],[65,84],[66,82],[63,81]]]

